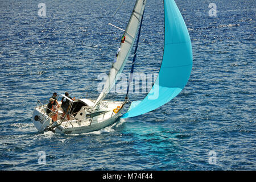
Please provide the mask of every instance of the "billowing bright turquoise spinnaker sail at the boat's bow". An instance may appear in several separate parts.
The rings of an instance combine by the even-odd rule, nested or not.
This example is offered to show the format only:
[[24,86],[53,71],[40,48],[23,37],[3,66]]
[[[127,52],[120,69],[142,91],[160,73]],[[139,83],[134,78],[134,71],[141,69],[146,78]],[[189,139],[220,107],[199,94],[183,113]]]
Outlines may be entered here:
[[135,117],[166,104],[187,84],[192,47],[185,22],[174,0],[164,0],[164,53],[158,77],[142,101],[133,101],[121,118]]

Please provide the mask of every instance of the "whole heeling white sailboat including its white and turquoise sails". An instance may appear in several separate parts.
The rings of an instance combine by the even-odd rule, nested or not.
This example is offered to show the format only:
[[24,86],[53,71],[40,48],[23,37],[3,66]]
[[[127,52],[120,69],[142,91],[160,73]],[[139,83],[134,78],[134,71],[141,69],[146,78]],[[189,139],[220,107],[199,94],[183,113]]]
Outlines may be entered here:
[[[97,100],[88,98],[71,100],[69,97],[61,95],[69,100],[68,113],[70,119],[67,119],[67,114],[63,114],[63,110],[57,109],[51,111],[51,115],[57,116],[56,121],[53,121],[51,115],[47,114],[47,104],[42,104],[38,101],[32,115],[32,122],[39,132],[52,131],[53,133],[79,134],[100,130],[112,125],[118,118],[135,117],[155,110],[181,92],[187,84],[192,70],[191,40],[175,1],[163,0],[163,2],[163,59],[158,77],[146,97],[143,100],[132,101],[129,109],[123,114],[123,108],[129,102],[127,97],[129,89],[127,89],[124,101],[104,101],[110,89],[117,82],[119,74],[123,71],[137,37],[131,73],[134,71],[134,61],[146,6],[146,0],[137,0],[122,35],[121,43],[104,84],[104,89]],[[131,77],[129,80],[131,80]]]

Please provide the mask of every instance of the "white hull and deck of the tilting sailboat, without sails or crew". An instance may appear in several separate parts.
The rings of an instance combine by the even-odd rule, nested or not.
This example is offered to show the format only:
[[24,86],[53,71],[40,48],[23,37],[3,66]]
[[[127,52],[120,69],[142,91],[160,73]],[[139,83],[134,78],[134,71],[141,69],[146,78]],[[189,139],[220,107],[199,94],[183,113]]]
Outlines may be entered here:
[[[79,102],[79,103],[78,103]],[[79,106],[74,107],[73,110],[79,109],[75,114],[71,113],[70,120],[63,119],[62,111],[59,108],[59,114],[57,121],[53,122],[52,118],[46,114],[46,105],[36,106],[34,109],[32,121],[39,132],[53,131],[54,133],[61,134],[81,134],[88,133],[103,129],[109,125],[112,125],[121,116],[121,110],[125,102],[107,102],[104,101],[101,108],[93,113],[86,112],[86,108],[90,107],[94,101],[91,100],[76,100],[74,103]],[[81,106],[80,105],[85,105]],[[117,113],[113,110],[120,107]],[[102,113],[102,114],[101,114]]]

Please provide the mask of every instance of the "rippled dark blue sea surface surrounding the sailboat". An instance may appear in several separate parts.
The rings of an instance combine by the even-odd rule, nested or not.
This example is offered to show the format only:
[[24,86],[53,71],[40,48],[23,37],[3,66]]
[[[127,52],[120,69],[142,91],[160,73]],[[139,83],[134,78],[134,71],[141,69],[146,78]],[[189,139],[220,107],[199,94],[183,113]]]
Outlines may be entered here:
[[[0,170],[255,170],[254,1],[175,1],[191,36],[193,68],[166,105],[88,134],[38,133],[36,101],[53,92],[100,94],[98,75],[109,73],[122,37],[108,23],[125,28],[135,3],[118,9],[121,2],[0,1]],[[163,11],[163,1],[147,0],[134,72],[159,71]],[[123,73],[131,61],[132,54]],[[145,95],[130,93],[130,100]],[[106,99],[113,97],[125,94]]]

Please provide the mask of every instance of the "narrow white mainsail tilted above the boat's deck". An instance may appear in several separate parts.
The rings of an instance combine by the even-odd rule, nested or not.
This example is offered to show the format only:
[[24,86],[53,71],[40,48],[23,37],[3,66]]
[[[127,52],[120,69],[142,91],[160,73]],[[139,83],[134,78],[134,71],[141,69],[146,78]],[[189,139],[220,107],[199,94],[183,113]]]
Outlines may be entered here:
[[135,3],[133,13],[130,16],[129,23],[126,27],[125,33],[123,34],[123,38],[125,38],[125,40],[120,43],[117,57],[114,60],[112,68],[110,69],[110,73],[106,79],[104,89],[100,93],[100,96],[98,96],[92,109],[94,109],[94,107],[96,107],[104,99],[106,94],[109,93],[110,89],[112,89],[112,87],[115,85],[115,82],[118,80],[119,73],[123,71],[123,67],[125,67],[131,48],[133,47],[145,5],[146,0],[137,0]]

